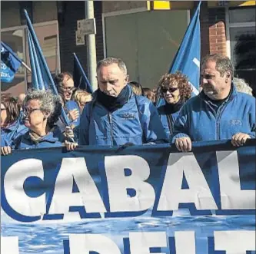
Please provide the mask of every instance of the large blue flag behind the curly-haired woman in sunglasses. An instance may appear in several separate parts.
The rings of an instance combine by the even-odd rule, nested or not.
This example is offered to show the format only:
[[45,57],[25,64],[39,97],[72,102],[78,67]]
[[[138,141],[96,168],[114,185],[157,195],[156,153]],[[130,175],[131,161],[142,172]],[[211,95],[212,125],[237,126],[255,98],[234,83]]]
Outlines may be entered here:
[[200,51],[201,51],[201,37],[200,37],[200,5],[194,12],[194,16],[188,25],[187,31],[180,48],[178,49],[175,59],[171,64],[169,73],[181,71],[182,74],[188,76],[188,80],[193,89],[193,94],[197,95],[199,92],[199,77],[200,77]]

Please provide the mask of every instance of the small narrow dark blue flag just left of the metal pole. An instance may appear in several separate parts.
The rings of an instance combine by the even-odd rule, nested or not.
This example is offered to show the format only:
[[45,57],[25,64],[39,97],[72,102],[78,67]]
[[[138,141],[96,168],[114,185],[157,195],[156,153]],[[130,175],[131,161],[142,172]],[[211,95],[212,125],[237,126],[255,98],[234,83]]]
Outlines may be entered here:
[[84,69],[81,67],[81,63],[74,54],[74,70],[73,70],[73,78],[74,78],[74,84],[75,87],[78,87],[80,89],[83,89],[87,91],[88,93],[92,94],[92,87],[90,82],[88,81],[88,78],[86,77]]

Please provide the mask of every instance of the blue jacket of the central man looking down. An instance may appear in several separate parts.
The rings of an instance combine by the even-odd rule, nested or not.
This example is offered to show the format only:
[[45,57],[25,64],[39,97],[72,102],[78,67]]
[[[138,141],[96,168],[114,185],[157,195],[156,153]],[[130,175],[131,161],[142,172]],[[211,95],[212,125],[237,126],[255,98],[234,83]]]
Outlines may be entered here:
[[[137,103],[136,103],[137,102]],[[165,143],[158,111],[146,97],[130,90],[128,102],[110,113],[97,98],[85,105],[78,128],[79,145],[118,146],[125,143]]]

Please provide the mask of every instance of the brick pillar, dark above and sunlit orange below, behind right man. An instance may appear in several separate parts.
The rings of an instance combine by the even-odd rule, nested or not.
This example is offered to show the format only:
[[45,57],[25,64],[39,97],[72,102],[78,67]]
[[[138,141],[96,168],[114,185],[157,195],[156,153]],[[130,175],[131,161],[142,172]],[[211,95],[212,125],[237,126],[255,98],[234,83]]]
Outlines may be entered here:
[[206,54],[226,55],[226,32],[224,8],[208,8],[207,2],[201,3],[201,57]]

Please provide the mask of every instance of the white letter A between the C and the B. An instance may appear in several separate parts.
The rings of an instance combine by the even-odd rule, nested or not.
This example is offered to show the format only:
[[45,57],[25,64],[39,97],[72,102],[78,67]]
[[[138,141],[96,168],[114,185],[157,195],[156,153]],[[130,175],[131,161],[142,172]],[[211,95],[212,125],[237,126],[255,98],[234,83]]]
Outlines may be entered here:
[[[72,193],[73,177],[78,193]],[[106,212],[95,182],[88,173],[84,157],[63,158],[49,213],[64,213],[65,216],[74,217],[74,213],[68,212],[70,206],[85,206],[87,213]]]

